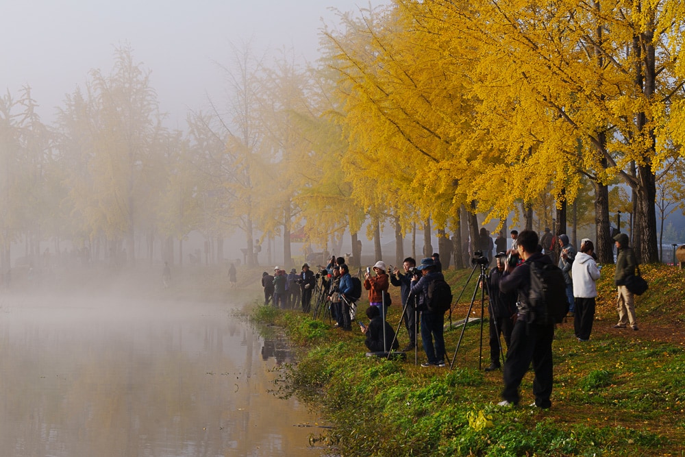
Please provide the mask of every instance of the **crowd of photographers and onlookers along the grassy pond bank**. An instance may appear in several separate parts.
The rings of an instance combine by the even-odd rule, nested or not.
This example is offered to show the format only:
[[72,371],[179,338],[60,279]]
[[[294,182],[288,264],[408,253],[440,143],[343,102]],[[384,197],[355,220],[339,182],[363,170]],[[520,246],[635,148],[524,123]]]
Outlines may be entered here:
[[[567,317],[573,318],[575,337],[581,343],[589,341],[595,321],[597,280],[601,275],[595,245],[592,240],[583,238],[576,251],[569,236],[553,236],[549,228],[545,228],[542,236],[532,230],[521,233],[512,230],[510,248],[503,232],[499,232],[495,240],[484,230],[480,235],[483,251],[476,254],[485,259],[479,259],[482,260],[479,263],[488,266],[486,277],[479,281],[479,287],[488,295],[490,364],[485,371],[502,369],[504,386],[500,405],[518,405],[521,381],[532,366],[534,406],[549,408],[556,323],[549,317],[542,319],[541,314],[530,312],[531,292],[536,287],[533,271],[551,268],[560,271],[563,285],[558,287],[559,297],[562,297],[561,301],[566,300]],[[636,260],[627,235],[619,233],[614,241],[617,251],[614,284],[619,314],[614,328],[630,326],[632,330],[638,330],[634,294],[625,285],[627,277],[635,273]],[[490,269],[492,258],[488,253],[495,248],[495,264]],[[401,321],[408,336],[401,351],[416,349],[417,335],[420,335],[426,359],[421,366],[445,367],[445,312],[436,312],[431,306],[432,284],[438,279],[444,280],[440,256],[434,253],[418,265],[414,258],[408,257],[403,260],[401,269],[390,267],[389,270],[385,262],[379,260],[366,269],[363,276],[362,285],[369,301],[365,310],[368,323],[356,319],[356,301],[360,297],[354,295],[360,294],[354,292],[349,267],[342,257],[332,257],[321,274],[314,274],[306,263],[299,273],[292,269],[286,275],[279,267],[275,267],[273,275],[265,271],[262,275],[264,304],[273,301],[273,306],[279,308],[296,308],[301,303],[301,310],[310,312],[312,293],[316,289],[325,296],[336,327],[351,331],[352,323],[356,321],[365,336],[366,348],[373,353],[388,354],[399,349],[398,335],[386,321],[386,309],[391,302],[389,286],[398,287]]]

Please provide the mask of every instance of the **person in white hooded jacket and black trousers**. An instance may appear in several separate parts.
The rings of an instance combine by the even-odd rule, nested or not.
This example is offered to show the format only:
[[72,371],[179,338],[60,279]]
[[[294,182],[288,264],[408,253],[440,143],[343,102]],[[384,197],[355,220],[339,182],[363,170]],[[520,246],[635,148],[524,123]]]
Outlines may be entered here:
[[593,258],[595,245],[584,239],[580,252],[575,256],[571,273],[573,275],[573,297],[575,299],[575,336],[578,341],[588,341],[595,321],[595,299],[599,268]]

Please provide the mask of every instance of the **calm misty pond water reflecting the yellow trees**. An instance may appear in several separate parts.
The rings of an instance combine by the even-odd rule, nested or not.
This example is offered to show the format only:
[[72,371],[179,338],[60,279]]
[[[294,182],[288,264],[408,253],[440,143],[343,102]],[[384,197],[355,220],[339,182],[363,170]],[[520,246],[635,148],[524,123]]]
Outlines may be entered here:
[[225,305],[3,297],[0,445],[10,456],[316,456],[268,393],[282,341]]

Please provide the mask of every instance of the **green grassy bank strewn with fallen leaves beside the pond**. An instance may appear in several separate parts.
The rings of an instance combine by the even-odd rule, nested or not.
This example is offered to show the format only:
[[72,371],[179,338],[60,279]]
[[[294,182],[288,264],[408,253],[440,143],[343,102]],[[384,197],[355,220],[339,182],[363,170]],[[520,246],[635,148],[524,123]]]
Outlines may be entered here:
[[[573,323],[558,326],[553,345],[552,408],[501,408],[501,371],[479,369],[480,327],[466,328],[453,369],[364,356],[355,328],[342,332],[301,312],[260,306],[253,318],[282,325],[302,349],[299,363],[279,383],[321,410],[336,425],[321,437],[345,456],[683,456],[685,455],[685,282],[673,267],[645,265],[649,291],[636,301],[640,330],[616,330],[613,267],[602,270],[597,318],[590,341]],[[463,319],[475,277],[447,271]],[[398,289],[391,288],[399,304]],[[360,304],[363,315],[365,304]],[[399,321],[393,305],[388,321]],[[480,316],[480,306],[472,317]],[[460,329],[445,332],[448,358]],[[482,367],[489,365],[487,324]],[[399,334],[406,344],[406,332]],[[425,360],[419,351],[419,365]],[[521,404],[533,402],[532,373]]]

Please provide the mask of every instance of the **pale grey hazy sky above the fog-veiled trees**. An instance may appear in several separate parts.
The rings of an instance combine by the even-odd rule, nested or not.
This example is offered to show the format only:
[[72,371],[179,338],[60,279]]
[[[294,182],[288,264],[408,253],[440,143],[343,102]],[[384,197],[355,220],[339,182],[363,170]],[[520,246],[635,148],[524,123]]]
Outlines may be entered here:
[[[382,5],[390,0],[372,0]],[[114,49],[128,44],[151,72],[169,127],[182,128],[188,110],[225,95],[223,70],[233,49],[256,55],[291,50],[301,62],[319,55],[319,31],[336,14],[369,8],[368,0],[0,0],[0,89],[18,97],[32,88],[43,121],[51,123],[64,95],[108,75]]]

